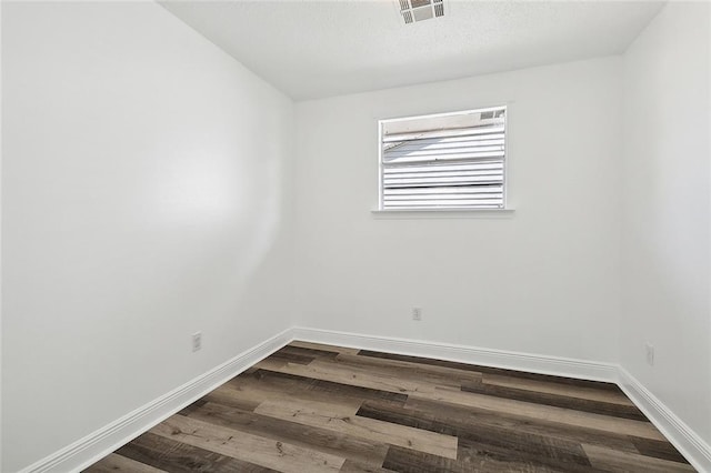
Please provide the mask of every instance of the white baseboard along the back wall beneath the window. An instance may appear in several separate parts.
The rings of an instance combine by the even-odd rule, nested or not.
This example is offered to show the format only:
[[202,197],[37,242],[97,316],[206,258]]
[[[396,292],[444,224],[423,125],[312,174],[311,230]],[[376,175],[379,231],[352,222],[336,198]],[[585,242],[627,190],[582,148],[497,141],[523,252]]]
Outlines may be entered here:
[[482,366],[504,368],[509,370],[577,378],[581,380],[614,383],[618,379],[618,366],[613,363],[574,360],[561,356],[481,349],[451,343],[427,342],[422,340],[362,335],[302,326],[297,326],[292,330],[292,338],[294,340],[309,342],[413,356],[434,358],[439,360],[479,364]]

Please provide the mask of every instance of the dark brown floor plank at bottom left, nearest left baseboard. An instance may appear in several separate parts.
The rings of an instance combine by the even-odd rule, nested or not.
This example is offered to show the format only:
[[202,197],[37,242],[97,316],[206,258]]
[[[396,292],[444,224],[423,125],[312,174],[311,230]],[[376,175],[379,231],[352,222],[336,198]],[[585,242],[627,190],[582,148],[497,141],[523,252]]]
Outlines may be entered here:
[[146,432],[117,451],[120,455],[171,473],[271,473],[273,470]]

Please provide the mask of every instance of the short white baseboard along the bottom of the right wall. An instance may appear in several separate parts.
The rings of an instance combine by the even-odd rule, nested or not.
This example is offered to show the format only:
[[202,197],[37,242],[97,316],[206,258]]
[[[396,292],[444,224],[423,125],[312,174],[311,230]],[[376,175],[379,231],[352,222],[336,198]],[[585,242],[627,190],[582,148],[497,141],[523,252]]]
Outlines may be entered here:
[[700,472],[711,472],[711,445],[652,394],[624,368],[619,366],[618,385],[657,429]]

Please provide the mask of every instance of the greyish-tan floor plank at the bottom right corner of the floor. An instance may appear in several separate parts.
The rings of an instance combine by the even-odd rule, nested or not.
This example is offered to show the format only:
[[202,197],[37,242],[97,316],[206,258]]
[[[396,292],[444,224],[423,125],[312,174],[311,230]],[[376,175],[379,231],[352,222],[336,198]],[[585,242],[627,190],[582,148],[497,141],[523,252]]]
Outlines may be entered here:
[[649,473],[675,473],[695,471],[693,466],[689,464],[670,462],[668,460],[618,452],[612,449],[595,445],[583,444],[582,447],[593,466],[609,472],[643,471]]

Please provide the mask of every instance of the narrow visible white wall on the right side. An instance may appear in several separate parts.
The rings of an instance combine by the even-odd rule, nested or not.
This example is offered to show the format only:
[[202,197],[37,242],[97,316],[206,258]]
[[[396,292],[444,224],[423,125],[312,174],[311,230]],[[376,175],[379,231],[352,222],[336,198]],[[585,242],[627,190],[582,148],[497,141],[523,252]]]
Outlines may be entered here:
[[620,324],[622,366],[708,444],[710,16],[708,3],[671,2],[624,56]]

